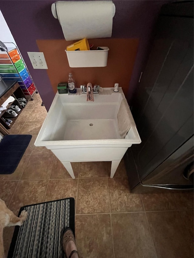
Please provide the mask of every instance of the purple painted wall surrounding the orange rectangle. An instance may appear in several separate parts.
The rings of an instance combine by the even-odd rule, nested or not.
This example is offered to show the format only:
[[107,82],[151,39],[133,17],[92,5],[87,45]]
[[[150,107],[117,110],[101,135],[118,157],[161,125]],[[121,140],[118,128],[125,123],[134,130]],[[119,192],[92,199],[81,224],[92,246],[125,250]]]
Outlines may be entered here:
[[[64,39],[59,21],[52,16],[54,0],[0,1],[0,9],[24,57],[48,110],[54,98],[46,70],[33,69],[27,51],[39,51],[37,39]],[[149,41],[159,10],[168,1],[113,1],[116,7],[112,38],[139,38],[139,48],[130,81],[130,101],[149,50]]]

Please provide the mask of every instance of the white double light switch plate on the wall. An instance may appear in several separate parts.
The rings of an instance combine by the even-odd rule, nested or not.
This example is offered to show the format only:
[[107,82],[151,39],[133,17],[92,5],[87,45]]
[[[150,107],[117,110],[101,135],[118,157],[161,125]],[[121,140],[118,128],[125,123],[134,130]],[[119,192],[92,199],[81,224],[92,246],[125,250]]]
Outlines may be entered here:
[[27,52],[34,69],[48,69],[43,52]]

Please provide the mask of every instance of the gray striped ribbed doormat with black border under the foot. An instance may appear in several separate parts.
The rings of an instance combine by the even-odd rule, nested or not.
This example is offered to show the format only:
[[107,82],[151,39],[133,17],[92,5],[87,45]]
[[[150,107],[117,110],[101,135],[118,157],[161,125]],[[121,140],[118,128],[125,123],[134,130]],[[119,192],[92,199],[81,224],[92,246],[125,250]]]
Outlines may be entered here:
[[65,227],[75,234],[75,200],[44,202],[24,206],[27,220],[15,227],[8,258],[63,258],[62,235]]

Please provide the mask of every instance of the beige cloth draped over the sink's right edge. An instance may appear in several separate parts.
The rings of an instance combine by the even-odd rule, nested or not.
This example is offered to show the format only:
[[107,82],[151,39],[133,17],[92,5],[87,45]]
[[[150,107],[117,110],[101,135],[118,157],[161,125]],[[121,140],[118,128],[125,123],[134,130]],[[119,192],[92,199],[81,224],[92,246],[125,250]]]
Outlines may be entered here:
[[117,114],[117,121],[121,139],[125,138],[127,132],[132,126],[136,126],[126,99],[121,101],[121,105]]

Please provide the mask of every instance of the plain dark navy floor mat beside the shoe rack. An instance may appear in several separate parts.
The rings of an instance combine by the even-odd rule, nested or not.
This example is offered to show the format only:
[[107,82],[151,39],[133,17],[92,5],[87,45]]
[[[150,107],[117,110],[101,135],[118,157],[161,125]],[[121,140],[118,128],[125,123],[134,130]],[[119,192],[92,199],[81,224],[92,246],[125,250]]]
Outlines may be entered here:
[[17,168],[32,135],[5,135],[0,142],[0,174],[12,174]]

